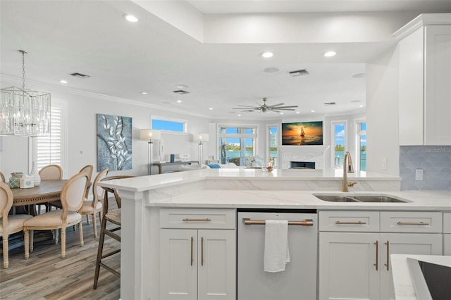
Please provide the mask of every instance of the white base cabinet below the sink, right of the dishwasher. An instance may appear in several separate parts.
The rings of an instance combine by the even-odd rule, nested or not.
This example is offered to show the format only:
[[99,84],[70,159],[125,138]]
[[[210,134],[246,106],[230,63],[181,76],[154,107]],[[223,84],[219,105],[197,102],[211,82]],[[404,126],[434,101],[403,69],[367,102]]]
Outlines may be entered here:
[[320,211],[319,220],[319,299],[394,299],[390,254],[442,254],[441,213]]

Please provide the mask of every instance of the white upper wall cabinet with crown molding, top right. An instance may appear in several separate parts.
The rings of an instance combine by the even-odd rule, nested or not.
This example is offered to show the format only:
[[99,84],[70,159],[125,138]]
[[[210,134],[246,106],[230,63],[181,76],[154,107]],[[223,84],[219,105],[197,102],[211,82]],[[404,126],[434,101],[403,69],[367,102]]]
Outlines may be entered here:
[[451,144],[451,14],[422,14],[399,40],[400,145]]

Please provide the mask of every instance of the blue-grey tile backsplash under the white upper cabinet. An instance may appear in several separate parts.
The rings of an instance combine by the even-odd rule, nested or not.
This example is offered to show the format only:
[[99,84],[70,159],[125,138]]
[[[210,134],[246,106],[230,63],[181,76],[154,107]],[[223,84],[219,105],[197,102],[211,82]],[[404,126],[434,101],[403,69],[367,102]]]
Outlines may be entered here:
[[[415,180],[416,169],[423,180]],[[451,146],[400,146],[401,189],[451,190]]]

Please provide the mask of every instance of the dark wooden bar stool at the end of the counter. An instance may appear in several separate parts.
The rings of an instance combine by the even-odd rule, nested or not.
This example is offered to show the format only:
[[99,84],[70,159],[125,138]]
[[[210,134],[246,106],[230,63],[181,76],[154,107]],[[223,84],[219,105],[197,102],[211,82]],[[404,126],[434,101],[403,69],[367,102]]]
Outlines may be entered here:
[[[115,179],[123,179],[123,178],[130,178],[130,177],[133,177],[133,176],[126,176],[126,175],[110,176],[110,177],[105,177],[103,180],[101,180],[101,182],[104,182],[106,180],[115,180]],[[102,259],[121,252],[121,246],[118,246],[117,249],[113,249],[113,250],[107,252],[106,254],[104,254],[104,241],[105,241],[105,235],[108,235],[109,237],[116,239],[116,241],[121,242],[121,236],[116,234],[116,231],[121,230],[122,201],[121,201],[121,197],[119,196],[116,189],[111,189],[109,187],[102,187],[102,189],[104,189],[104,191],[105,191],[105,193],[104,193],[104,209],[103,209],[101,225],[100,225],[99,248],[97,249],[96,270],[94,273],[94,287],[93,287],[94,289],[97,289],[97,283],[99,282],[100,267],[105,268],[106,270],[109,270],[114,275],[121,277],[121,273],[118,270],[114,270],[109,265],[106,265],[106,263],[102,262]],[[109,209],[108,193],[113,194],[114,199],[116,199],[116,204],[118,205],[118,208]],[[111,224],[107,224],[107,222],[109,222]]]

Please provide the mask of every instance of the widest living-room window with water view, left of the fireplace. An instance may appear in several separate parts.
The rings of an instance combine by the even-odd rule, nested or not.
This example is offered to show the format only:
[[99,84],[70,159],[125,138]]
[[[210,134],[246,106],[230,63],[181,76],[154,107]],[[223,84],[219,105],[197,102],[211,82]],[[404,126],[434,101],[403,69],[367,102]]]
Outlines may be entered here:
[[254,161],[256,159],[257,126],[219,125],[218,129],[220,163],[245,165],[246,160]]

